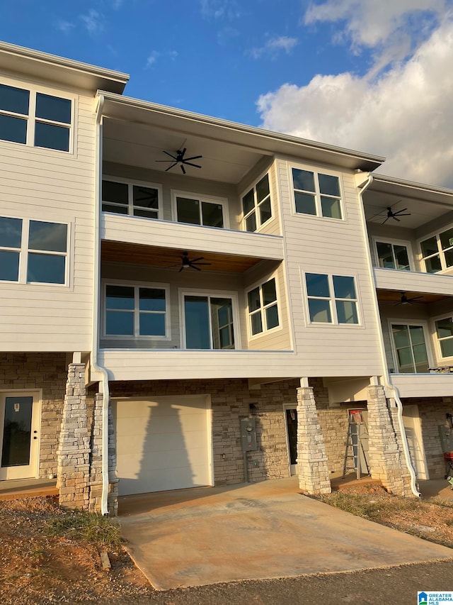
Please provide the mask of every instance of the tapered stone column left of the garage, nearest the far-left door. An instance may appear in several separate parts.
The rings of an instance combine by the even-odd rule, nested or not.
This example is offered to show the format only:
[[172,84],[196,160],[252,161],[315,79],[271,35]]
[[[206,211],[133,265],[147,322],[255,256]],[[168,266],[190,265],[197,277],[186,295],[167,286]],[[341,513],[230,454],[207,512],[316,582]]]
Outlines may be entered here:
[[57,458],[59,503],[71,508],[88,509],[90,438],[83,363],[71,363],[68,367]]

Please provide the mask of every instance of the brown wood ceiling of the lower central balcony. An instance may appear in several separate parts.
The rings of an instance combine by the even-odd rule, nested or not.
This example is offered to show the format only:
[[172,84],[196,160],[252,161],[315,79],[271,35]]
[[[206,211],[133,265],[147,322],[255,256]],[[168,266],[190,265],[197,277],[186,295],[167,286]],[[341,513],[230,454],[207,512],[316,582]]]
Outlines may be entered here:
[[[200,252],[187,250],[189,260],[204,257],[202,262],[210,262],[210,266],[202,266],[202,271],[222,271],[229,273],[243,273],[260,262],[260,258],[243,257],[240,255],[225,255],[217,252]],[[105,262],[125,262],[131,265],[152,265],[154,267],[171,267],[169,270],[178,272],[181,262],[180,250],[172,248],[158,248],[113,241],[103,241],[101,247],[101,260]],[[197,272],[194,269],[185,271]]]

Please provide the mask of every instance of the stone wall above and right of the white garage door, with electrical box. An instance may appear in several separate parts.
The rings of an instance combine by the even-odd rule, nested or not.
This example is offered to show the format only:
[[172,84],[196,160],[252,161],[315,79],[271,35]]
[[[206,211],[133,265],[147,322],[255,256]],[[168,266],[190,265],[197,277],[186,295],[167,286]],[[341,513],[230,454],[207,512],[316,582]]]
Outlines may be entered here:
[[239,418],[250,415],[256,406],[258,450],[248,453],[248,479],[251,482],[289,476],[289,459],[283,405],[297,406],[298,380],[263,384],[248,389],[246,379],[187,381],[112,382],[110,396],[174,396],[210,394],[214,481],[216,485],[243,482],[243,453]]

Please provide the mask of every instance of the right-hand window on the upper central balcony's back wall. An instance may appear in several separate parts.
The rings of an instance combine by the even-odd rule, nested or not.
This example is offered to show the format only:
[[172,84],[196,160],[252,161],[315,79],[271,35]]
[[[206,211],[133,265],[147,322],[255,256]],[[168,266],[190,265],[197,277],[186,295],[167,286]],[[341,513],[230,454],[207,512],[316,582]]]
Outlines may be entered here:
[[172,196],[173,216],[178,223],[205,227],[228,227],[225,199],[185,192],[172,192]]

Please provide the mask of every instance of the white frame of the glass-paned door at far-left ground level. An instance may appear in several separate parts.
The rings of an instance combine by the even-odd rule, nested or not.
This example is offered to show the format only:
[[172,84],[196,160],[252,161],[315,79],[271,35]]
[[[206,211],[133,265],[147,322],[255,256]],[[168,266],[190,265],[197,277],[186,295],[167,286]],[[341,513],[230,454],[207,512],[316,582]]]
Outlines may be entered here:
[[11,467],[0,467],[0,481],[5,479],[33,479],[38,477],[40,460],[40,419],[42,392],[30,389],[11,389],[0,391],[0,463],[1,445],[5,419],[6,397],[33,397],[31,435],[30,435],[30,464]]

